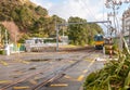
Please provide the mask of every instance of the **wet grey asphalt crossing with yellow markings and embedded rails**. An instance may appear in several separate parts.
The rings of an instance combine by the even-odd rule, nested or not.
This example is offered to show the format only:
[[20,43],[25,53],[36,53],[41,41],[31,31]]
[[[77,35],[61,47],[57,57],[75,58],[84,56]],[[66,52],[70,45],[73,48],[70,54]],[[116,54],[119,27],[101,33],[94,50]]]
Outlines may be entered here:
[[[0,88],[9,86],[1,90],[80,90],[87,75],[104,65],[104,61],[95,59],[107,56],[101,51],[82,50],[20,53],[0,57]],[[54,75],[63,76],[50,81]],[[35,89],[34,86],[47,79],[50,82]]]

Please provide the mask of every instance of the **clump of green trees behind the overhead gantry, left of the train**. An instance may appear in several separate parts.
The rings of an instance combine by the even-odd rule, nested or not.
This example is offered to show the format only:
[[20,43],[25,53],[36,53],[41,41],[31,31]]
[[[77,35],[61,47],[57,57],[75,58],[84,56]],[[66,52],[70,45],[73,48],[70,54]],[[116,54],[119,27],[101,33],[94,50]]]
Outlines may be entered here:
[[68,38],[72,44],[91,44],[95,34],[103,34],[102,28],[98,24],[89,24],[86,20],[79,17],[69,17],[68,23],[82,23],[68,26]]

